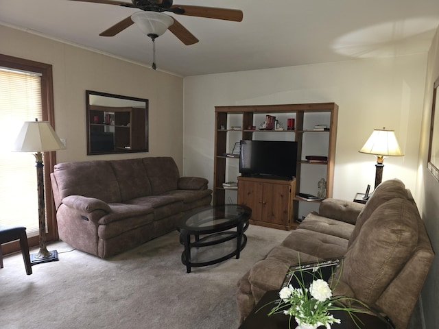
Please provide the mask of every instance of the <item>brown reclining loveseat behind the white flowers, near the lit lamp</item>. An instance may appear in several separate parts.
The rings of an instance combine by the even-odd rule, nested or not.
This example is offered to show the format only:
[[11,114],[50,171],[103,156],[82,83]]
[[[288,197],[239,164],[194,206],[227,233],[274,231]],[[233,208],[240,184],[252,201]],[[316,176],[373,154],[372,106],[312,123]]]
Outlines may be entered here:
[[[319,213],[259,260],[238,282],[244,319],[266,291],[281,287],[289,265],[344,256],[335,294],[357,297],[407,328],[434,258],[424,223],[400,180],[381,183],[366,205],[325,199]],[[336,275],[337,273],[335,273]]]

